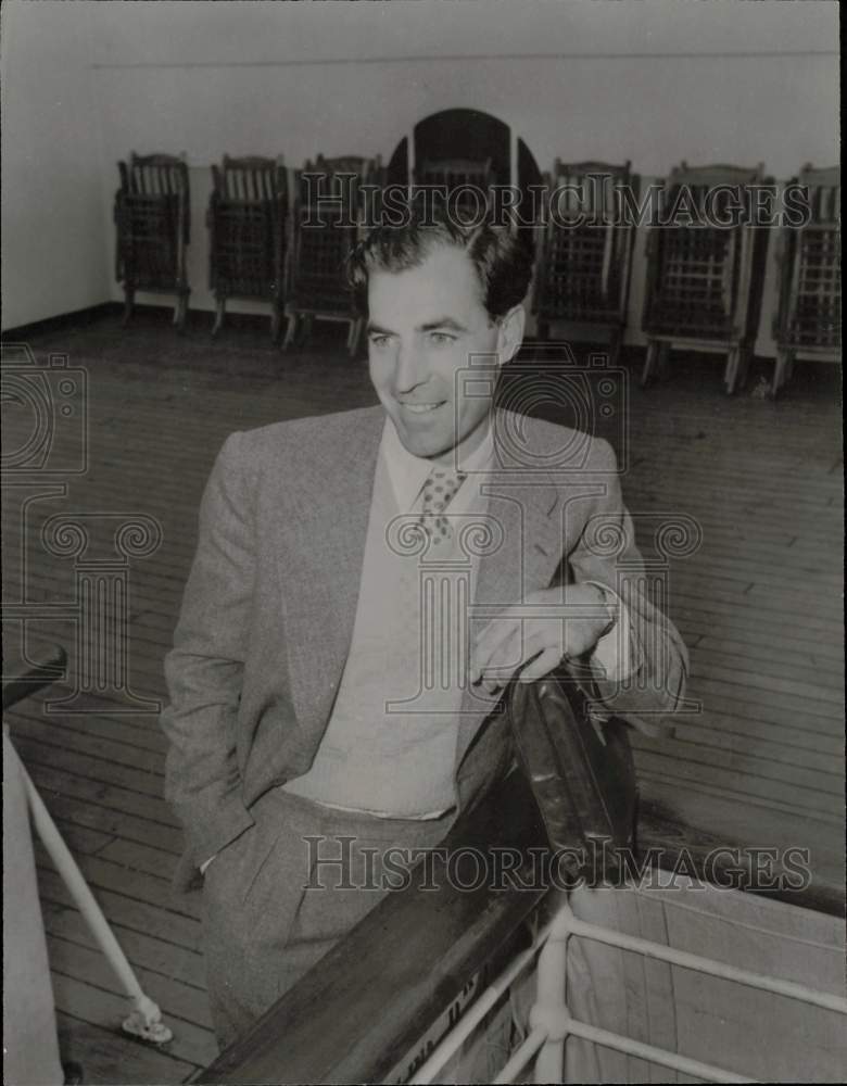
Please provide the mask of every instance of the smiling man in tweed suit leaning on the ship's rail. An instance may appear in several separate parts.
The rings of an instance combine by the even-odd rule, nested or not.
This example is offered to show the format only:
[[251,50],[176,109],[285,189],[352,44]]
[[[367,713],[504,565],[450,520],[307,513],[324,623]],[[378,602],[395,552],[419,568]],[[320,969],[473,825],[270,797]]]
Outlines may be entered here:
[[222,1043],[377,904],[388,848],[437,845],[506,771],[493,710],[516,671],[587,658],[644,728],[682,696],[610,447],[494,407],[531,270],[488,225],[374,230],[351,275],[380,406],[233,433],[217,457],[163,727]]

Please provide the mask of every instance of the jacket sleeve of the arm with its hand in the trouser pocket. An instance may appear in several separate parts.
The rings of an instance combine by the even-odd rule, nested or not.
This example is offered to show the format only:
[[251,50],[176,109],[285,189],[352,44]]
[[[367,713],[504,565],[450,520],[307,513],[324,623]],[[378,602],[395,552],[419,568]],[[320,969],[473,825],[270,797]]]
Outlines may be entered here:
[[255,573],[254,517],[242,434],[227,438],[200,504],[198,547],[165,659],[170,745],[165,796],[199,867],[253,819],[243,805],[236,720]]

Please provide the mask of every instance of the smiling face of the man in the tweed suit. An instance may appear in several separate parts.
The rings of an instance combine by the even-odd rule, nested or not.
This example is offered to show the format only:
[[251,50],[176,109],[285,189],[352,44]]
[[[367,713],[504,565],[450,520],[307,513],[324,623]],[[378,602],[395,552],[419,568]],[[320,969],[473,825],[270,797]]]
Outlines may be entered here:
[[[520,345],[522,307],[492,320],[468,255],[438,244],[418,267],[374,269],[368,312],[370,379],[405,447],[445,464],[457,445],[472,452],[485,433],[497,367]],[[480,355],[490,367],[476,361],[475,379],[457,379]],[[492,394],[477,394],[486,378]]]

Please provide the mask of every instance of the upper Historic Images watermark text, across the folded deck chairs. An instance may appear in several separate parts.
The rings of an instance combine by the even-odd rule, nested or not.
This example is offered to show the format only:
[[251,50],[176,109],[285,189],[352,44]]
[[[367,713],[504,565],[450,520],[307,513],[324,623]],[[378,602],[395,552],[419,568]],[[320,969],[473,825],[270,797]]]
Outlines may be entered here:
[[659,228],[791,227],[811,218],[808,186],[793,181],[669,189],[653,181],[643,189],[610,174],[592,174],[557,186],[374,185],[358,174],[303,173],[304,228],[399,228],[432,226],[444,211],[454,223],[509,228],[559,229],[616,226]]

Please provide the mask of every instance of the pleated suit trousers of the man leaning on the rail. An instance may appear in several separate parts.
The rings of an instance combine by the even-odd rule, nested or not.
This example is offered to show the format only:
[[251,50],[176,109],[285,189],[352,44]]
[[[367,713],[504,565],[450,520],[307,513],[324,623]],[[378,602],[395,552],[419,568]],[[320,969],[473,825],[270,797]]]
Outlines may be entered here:
[[[453,822],[452,815],[333,810],[279,787],[251,815],[254,824],[216,856],[203,881],[208,998],[222,1047],[399,885],[407,850],[434,847]],[[402,851],[385,857],[390,848]]]

